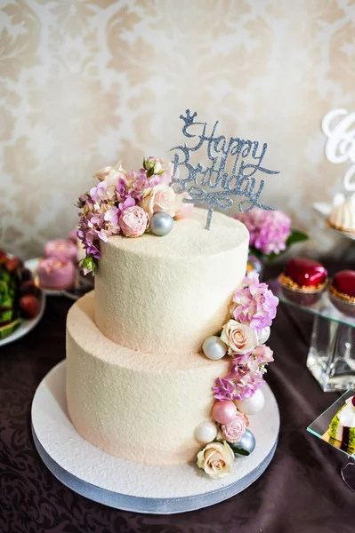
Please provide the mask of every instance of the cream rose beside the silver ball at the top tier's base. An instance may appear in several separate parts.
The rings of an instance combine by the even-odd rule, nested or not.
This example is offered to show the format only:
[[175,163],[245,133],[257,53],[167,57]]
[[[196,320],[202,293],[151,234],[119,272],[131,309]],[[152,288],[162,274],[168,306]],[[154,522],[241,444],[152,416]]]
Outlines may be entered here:
[[228,346],[229,354],[247,354],[259,344],[256,330],[236,320],[224,324],[221,339]]

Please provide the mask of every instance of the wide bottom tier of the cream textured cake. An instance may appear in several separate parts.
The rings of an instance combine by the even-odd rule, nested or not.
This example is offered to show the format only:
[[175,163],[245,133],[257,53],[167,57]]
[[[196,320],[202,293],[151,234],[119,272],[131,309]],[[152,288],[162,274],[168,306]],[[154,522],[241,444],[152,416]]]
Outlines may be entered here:
[[146,464],[189,462],[201,447],[195,428],[211,418],[214,379],[228,372],[229,362],[117,345],[93,322],[90,292],[68,314],[69,416],[79,434],[114,456]]

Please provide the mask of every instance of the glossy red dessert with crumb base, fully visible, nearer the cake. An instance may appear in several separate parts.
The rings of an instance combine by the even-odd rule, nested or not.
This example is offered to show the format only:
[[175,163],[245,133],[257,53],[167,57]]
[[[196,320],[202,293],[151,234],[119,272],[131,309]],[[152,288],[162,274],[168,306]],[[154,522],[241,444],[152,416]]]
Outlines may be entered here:
[[294,258],[288,261],[278,281],[286,298],[300,306],[312,306],[327,285],[327,269],[318,261]]

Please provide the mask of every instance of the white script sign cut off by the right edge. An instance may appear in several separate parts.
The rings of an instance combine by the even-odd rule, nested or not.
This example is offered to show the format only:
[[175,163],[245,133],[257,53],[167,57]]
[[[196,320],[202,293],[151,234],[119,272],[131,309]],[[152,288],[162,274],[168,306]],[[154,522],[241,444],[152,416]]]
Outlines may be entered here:
[[343,177],[343,187],[346,191],[355,191],[355,112],[349,113],[347,109],[329,111],[322,120],[322,131],[327,136],[327,159],[331,163],[352,163]]

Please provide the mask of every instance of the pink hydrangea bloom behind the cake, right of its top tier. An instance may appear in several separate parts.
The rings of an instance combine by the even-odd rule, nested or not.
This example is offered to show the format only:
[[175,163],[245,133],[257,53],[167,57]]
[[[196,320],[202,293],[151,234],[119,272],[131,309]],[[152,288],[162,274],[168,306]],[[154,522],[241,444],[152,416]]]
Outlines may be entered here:
[[264,211],[254,207],[247,213],[234,216],[246,225],[250,234],[250,246],[263,254],[286,250],[286,240],[291,235],[291,219],[282,211]]

